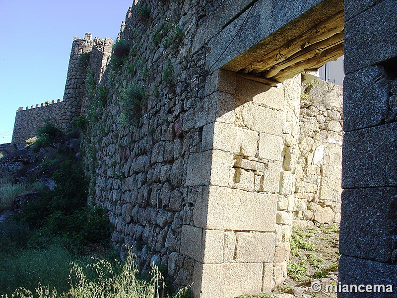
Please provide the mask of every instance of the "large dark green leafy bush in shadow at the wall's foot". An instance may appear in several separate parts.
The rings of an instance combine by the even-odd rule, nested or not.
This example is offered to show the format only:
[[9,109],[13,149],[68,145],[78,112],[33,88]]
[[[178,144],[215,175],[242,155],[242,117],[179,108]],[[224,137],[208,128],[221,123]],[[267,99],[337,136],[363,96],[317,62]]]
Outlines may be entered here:
[[[66,160],[55,171],[53,190],[28,202],[21,219],[39,229],[34,241],[61,237],[72,249],[109,240],[111,224],[100,209],[87,207],[87,182],[81,164]],[[44,240],[43,240],[44,239]]]

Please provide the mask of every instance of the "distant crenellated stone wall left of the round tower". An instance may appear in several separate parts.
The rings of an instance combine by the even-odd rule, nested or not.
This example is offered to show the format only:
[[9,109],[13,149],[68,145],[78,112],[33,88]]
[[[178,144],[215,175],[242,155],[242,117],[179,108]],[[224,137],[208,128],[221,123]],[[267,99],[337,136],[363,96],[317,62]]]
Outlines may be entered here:
[[12,133],[12,144],[19,149],[26,146],[25,141],[33,138],[37,130],[44,126],[48,121],[57,127],[62,125],[62,113],[65,108],[65,101],[58,99],[57,102],[52,100],[50,104],[19,108],[16,111],[14,130]]

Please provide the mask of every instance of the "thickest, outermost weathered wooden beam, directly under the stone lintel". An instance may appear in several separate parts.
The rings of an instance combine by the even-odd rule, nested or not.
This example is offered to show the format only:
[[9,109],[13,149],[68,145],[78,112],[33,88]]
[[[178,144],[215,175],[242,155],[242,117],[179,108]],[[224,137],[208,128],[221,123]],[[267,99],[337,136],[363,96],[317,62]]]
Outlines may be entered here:
[[276,65],[302,49],[330,38],[335,33],[340,33],[344,28],[344,14],[343,11],[339,11],[335,15],[329,17],[323,22],[320,22],[310,30],[306,31],[302,35],[290,40],[282,47],[273,50],[266,54],[261,59],[248,65],[245,69],[249,72],[263,72],[273,65]]

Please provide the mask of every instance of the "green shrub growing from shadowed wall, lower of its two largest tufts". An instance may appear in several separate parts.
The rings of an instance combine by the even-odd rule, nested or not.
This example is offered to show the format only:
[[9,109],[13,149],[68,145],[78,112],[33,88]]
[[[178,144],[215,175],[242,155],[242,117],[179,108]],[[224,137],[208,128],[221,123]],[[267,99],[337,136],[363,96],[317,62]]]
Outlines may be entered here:
[[146,99],[142,87],[131,84],[121,94],[121,123],[125,127],[134,127],[141,117],[141,105]]

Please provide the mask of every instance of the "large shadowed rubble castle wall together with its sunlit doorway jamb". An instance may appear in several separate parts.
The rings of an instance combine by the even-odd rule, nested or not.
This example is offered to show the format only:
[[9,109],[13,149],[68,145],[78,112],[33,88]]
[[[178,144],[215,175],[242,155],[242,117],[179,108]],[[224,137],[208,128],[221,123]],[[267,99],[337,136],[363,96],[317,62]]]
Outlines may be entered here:
[[[304,11],[282,32],[298,36],[341,9],[320,2],[282,21],[270,12],[285,1],[139,0],[148,14],[127,12],[119,37],[132,49],[108,68],[106,100],[84,99],[83,151],[90,197],[140,270],[161,264],[176,286],[193,282],[196,297],[268,292],[286,277],[301,82],[270,87],[237,77],[243,62],[219,68]],[[285,42],[277,36],[264,45]],[[126,105],[131,88],[144,93],[136,110]],[[126,123],[131,112],[137,124]]]

